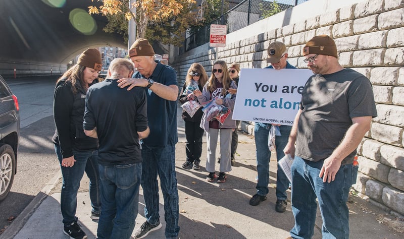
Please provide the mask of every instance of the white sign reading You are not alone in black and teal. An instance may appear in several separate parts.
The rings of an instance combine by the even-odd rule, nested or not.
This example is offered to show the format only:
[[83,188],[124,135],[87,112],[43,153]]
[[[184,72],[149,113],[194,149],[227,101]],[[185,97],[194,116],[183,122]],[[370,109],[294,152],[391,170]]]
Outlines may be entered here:
[[233,120],[293,125],[308,69],[241,69]]

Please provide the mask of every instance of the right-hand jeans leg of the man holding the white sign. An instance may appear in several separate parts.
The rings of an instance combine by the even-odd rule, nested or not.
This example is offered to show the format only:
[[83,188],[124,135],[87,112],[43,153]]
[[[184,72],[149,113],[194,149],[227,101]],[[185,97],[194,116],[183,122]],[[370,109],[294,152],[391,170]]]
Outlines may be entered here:
[[[289,139],[291,126],[279,126],[280,136],[275,137],[275,148],[276,148],[276,160],[279,161],[285,154],[283,149],[286,147],[287,141]],[[276,170],[276,199],[286,200],[287,194],[286,190],[289,188],[289,180],[287,179],[285,173],[277,164],[278,168]]]

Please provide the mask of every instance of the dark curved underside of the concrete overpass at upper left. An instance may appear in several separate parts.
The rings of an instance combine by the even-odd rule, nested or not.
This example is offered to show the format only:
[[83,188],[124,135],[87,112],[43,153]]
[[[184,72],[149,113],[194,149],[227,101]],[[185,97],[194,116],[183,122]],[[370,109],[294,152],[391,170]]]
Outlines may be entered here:
[[90,0],[1,0],[0,74],[63,73],[88,47],[127,47],[118,34],[105,33],[106,17],[89,15]]

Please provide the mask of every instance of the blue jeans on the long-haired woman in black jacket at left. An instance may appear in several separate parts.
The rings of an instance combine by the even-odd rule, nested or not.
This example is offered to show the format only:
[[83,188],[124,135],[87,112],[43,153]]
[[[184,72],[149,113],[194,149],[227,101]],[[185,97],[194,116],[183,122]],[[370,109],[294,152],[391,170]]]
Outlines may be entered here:
[[92,211],[101,212],[101,195],[99,186],[99,172],[97,162],[97,150],[89,151],[73,151],[74,162],[73,167],[62,166],[62,153],[59,145],[55,144],[55,152],[59,159],[62,170],[62,192],[60,196],[60,208],[63,216],[63,223],[70,225],[77,222],[77,192],[80,188],[80,181],[84,171],[90,179],[89,191]]

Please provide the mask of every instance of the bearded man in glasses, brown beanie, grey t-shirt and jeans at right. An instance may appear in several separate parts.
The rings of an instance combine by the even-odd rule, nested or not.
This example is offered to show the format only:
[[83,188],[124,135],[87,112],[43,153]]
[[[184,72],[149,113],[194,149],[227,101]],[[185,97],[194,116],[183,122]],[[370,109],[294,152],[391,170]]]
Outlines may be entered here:
[[[292,211],[295,225],[289,238],[311,238],[317,202],[323,238],[349,238],[349,189],[356,183],[356,149],[370,129],[376,106],[365,76],[338,63],[337,47],[327,35],[313,37],[302,49],[315,75],[301,93],[289,141],[294,157]],[[295,145],[296,144],[296,145]]]

